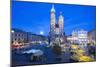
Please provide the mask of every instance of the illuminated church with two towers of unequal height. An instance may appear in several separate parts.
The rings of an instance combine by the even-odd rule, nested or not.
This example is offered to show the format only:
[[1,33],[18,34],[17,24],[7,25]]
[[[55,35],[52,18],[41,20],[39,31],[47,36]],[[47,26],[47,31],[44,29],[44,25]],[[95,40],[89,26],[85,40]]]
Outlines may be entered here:
[[51,12],[50,12],[50,44],[55,42],[60,42],[63,39],[64,36],[64,17],[62,16],[62,13],[60,12],[58,22],[56,20],[55,15],[55,8],[54,5],[52,5]]

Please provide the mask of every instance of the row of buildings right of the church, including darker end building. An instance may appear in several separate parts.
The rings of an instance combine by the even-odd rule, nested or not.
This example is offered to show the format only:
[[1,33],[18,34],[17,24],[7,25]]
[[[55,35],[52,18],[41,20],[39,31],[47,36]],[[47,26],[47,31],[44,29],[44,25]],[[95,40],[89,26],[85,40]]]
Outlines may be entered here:
[[96,41],[96,31],[74,30],[72,34],[67,37],[67,40],[77,44],[94,43]]

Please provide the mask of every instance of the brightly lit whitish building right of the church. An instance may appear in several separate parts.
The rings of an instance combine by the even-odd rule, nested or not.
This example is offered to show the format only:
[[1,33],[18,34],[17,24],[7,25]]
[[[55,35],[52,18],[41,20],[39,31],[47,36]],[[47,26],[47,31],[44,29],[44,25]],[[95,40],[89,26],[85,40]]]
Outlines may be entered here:
[[67,38],[71,43],[87,44],[88,43],[88,32],[85,30],[74,30],[72,36]]

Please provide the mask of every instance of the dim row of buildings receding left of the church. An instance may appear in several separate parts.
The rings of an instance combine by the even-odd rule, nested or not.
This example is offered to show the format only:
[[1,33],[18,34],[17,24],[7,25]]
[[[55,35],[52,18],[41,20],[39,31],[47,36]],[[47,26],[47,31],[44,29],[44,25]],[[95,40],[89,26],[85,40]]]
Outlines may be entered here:
[[46,37],[42,35],[36,35],[31,32],[25,32],[23,30],[15,28],[11,30],[11,43],[14,43],[15,41],[19,43],[29,43],[43,40],[46,40]]

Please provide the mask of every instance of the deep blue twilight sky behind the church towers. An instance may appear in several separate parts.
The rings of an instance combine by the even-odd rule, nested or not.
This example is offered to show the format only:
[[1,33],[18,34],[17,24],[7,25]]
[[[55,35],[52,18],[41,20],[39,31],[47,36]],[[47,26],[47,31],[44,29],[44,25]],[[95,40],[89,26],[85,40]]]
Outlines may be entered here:
[[[51,3],[12,1],[11,7],[12,28],[48,35]],[[75,29],[91,31],[96,28],[95,6],[54,4],[54,7],[57,21],[59,13],[62,12],[66,35],[70,35]]]

